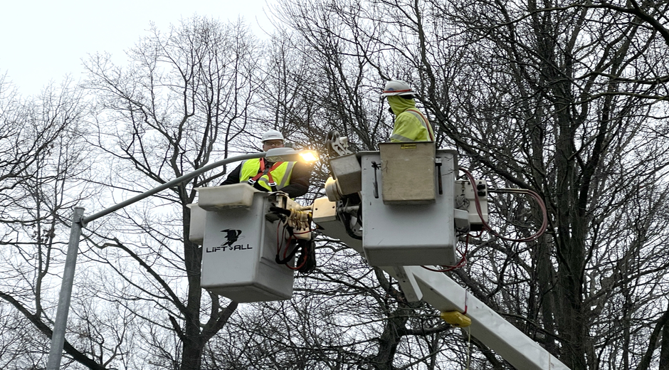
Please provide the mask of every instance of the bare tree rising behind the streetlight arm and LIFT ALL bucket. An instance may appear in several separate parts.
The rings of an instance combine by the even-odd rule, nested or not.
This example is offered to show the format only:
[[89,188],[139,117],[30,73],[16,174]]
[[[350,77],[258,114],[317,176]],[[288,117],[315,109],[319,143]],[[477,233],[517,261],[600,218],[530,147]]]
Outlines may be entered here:
[[[92,144],[115,164],[105,181],[112,194],[152,189],[238,150],[238,135],[251,128],[259,50],[243,23],[194,17],[167,34],[153,28],[128,53],[128,68],[105,56],[91,58],[88,88],[99,107]],[[206,343],[237,307],[216,295],[203,297],[202,252],[189,240],[186,205],[196,199],[194,188],[220,177],[219,171],[198,176],[93,230],[99,248],[87,255],[122,282],[106,287],[101,298],[124,302],[141,317],[139,327],[152,327],[142,334],[146,361],[160,367],[200,369]]]

